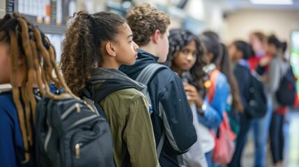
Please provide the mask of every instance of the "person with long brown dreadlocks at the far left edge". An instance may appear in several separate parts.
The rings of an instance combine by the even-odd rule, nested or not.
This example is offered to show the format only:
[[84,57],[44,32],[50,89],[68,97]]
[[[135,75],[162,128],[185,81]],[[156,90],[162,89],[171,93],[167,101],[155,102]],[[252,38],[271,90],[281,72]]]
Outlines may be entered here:
[[13,13],[0,19],[0,84],[12,86],[0,94],[0,166],[34,166],[34,94],[63,98],[51,93],[53,82],[70,93],[54,53],[45,34],[26,18]]

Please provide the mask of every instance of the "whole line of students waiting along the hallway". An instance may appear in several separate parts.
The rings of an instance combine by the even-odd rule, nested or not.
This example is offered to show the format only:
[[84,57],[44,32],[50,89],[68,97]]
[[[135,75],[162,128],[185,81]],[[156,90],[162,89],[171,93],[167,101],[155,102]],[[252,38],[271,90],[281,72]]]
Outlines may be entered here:
[[[265,166],[269,127],[273,163],[281,165],[287,109],[274,94],[289,69],[283,58],[286,44],[256,32],[250,44],[235,41],[226,47],[211,31],[197,36],[169,25],[169,16],[147,3],[132,8],[126,18],[86,11],[70,18],[60,62],[63,79],[57,82],[73,97],[81,97],[91,82],[94,88],[111,79],[134,86],[99,102],[112,135],[114,166],[240,166],[251,126],[256,166]],[[0,166],[36,166],[33,93],[51,94],[43,89],[55,82],[45,67],[54,60],[53,50],[45,34],[22,15],[0,19],[0,84],[13,86],[0,94]],[[135,81],[153,64],[163,67],[146,86]],[[262,118],[247,114],[250,70],[258,71],[266,85],[268,110]],[[233,132],[229,140],[236,139],[226,150],[231,154],[226,163],[217,150],[227,143],[215,142],[227,135],[224,129]]]

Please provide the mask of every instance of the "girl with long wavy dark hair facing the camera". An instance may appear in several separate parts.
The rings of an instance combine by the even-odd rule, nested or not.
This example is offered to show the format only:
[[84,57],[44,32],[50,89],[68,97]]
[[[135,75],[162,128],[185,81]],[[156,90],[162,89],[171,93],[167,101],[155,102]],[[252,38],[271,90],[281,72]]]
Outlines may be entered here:
[[201,137],[206,134],[203,134],[202,125],[199,125],[197,120],[198,109],[201,109],[203,104],[203,95],[199,92],[204,90],[205,72],[203,67],[206,65],[199,38],[187,30],[171,29],[169,31],[169,53],[165,65],[176,72],[183,81],[198,137],[197,142],[192,145],[190,150],[183,154],[183,161],[180,163],[183,166],[208,166],[201,145]]

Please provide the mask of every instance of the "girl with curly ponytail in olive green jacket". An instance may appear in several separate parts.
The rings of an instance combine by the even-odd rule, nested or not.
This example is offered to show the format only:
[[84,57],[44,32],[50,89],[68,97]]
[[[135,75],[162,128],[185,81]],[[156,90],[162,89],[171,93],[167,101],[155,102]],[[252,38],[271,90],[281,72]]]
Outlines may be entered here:
[[[135,88],[116,90],[100,101],[114,141],[116,166],[159,166],[148,101],[138,84],[120,65],[133,65],[138,45],[132,40],[130,26],[114,13],[89,14],[81,11],[70,20],[63,42],[61,70],[70,89],[77,95],[84,88],[100,88],[107,79],[120,79]],[[100,96],[95,94],[95,96]]]

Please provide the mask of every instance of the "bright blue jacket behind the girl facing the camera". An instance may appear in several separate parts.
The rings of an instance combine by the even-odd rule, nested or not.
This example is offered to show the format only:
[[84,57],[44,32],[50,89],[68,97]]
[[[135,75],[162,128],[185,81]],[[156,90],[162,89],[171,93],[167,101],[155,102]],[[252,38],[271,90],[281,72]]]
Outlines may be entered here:
[[[227,97],[229,97],[229,83],[227,77],[219,72],[215,81],[212,81],[212,86],[215,88],[215,94],[213,95],[213,100],[208,102],[206,97],[204,100],[204,116],[198,114],[199,122],[204,124],[210,129],[215,129],[219,127],[223,120],[223,113],[227,105]],[[209,90],[208,90],[209,91]]]

